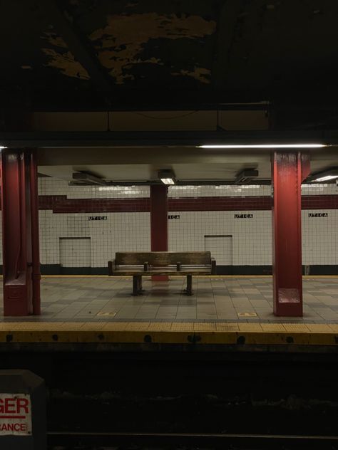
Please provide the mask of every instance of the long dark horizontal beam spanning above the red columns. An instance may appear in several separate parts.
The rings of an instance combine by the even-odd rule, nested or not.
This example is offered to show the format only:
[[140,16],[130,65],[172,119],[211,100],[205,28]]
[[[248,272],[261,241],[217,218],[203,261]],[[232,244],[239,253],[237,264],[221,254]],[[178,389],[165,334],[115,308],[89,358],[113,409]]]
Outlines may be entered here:
[[[306,143],[338,145],[338,130],[269,130],[235,132],[0,132],[0,146],[12,148],[197,147],[199,145]],[[142,151],[142,149],[140,149],[140,151]],[[252,152],[254,151],[255,150],[252,150]]]

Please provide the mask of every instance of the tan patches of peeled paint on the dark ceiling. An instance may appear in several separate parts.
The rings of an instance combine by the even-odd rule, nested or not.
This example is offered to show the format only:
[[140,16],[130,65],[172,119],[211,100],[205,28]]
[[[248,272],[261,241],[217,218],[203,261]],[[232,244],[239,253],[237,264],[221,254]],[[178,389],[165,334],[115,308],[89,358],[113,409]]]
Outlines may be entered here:
[[[130,14],[111,15],[106,19],[106,26],[93,31],[88,38],[96,48],[98,60],[108,69],[116,84],[123,84],[126,80],[135,80],[132,69],[138,64],[164,66],[165,63],[157,56],[149,54],[146,49],[151,40],[157,41],[157,48],[164,48],[168,40],[191,39],[203,44],[203,38],[215,32],[216,22],[205,20],[201,16],[178,17],[175,14]],[[43,47],[41,50],[48,57],[46,66],[61,70],[63,75],[87,80],[88,72],[73,54],[61,36],[56,33],[45,32],[43,39],[52,48]],[[210,83],[210,68],[200,67],[198,62],[189,67],[169,68],[171,75],[188,76]]]

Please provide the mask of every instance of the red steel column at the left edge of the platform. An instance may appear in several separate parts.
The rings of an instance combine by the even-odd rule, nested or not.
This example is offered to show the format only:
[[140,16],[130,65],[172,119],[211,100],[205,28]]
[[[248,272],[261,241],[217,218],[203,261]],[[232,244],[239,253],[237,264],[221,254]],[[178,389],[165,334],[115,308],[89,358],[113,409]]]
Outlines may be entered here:
[[1,152],[4,315],[40,313],[36,182],[32,150]]

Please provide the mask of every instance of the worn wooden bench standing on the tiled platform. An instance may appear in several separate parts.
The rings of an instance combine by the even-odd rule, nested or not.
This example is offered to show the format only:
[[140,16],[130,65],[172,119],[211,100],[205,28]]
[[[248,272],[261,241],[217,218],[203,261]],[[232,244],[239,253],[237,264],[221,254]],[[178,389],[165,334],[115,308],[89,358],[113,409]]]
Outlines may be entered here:
[[193,294],[193,275],[215,275],[216,261],[210,251],[117,252],[108,261],[111,276],[133,276],[133,295],[140,295],[142,276],[182,275],[187,277],[187,295]]

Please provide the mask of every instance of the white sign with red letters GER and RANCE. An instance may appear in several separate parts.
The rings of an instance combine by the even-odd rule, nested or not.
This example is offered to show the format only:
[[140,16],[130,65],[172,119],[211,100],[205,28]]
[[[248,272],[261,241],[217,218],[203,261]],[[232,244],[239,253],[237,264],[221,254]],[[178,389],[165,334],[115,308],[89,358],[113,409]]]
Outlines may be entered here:
[[31,434],[31,397],[29,394],[0,394],[0,435]]

